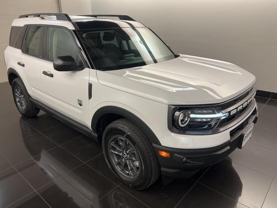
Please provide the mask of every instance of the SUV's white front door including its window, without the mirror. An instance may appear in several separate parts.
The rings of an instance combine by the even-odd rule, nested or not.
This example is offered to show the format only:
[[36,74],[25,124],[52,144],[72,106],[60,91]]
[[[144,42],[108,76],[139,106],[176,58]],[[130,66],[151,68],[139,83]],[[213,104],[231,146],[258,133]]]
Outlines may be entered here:
[[41,63],[40,73],[46,105],[63,115],[89,126],[88,83],[90,69],[60,72],[53,68],[58,56],[70,55],[77,65],[84,66],[77,43],[66,28],[49,27],[48,60]]

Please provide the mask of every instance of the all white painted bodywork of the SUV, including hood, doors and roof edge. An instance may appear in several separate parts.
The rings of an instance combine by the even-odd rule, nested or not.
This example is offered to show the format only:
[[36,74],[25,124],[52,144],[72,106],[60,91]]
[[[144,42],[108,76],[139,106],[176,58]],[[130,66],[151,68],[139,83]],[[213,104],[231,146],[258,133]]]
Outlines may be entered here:
[[[74,29],[71,22],[39,17],[16,19],[12,25],[25,24]],[[92,117],[99,108],[117,106],[143,120],[161,145],[185,149],[223,144],[230,139],[229,132],[245,118],[214,135],[180,135],[168,129],[168,105],[222,103],[243,93],[256,81],[254,75],[234,64],[189,55],[130,69],[96,71],[86,68],[58,72],[53,69],[52,62],[25,55],[20,49],[8,46],[5,61],[7,69],[17,71],[31,97],[90,129]],[[25,67],[17,65],[18,61]],[[43,71],[53,73],[54,77],[44,76]],[[92,83],[90,100],[89,82]],[[78,105],[77,99],[82,100],[83,106]]]

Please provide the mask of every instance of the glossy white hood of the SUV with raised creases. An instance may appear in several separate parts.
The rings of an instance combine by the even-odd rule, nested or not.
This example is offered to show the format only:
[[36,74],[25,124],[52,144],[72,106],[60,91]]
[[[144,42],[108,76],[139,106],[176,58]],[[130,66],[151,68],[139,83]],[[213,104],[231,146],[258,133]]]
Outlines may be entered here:
[[225,102],[256,82],[237,65],[189,55],[142,67],[97,70],[97,78],[102,85],[170,105]]

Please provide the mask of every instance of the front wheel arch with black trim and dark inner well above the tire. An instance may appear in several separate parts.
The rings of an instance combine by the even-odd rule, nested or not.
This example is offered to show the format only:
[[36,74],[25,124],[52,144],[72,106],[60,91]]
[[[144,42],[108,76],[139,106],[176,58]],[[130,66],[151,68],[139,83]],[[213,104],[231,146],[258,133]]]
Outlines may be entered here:
[[161,142],[158,140],[157,136],[149,128],[149,126],[143,122],[143,120],[124,108],[112,105],[101,107],[93,114],[91,120],[91,129],[93,132],[102,136],[102,132],[104,131],[102,125],[105,126],[105,124],[107,124],[103,122],[103,119],[107,119],[107,117],[111,118],[108,120],[108,124],[120,118],[127,118],[145,133],[150,142],[161,145]]

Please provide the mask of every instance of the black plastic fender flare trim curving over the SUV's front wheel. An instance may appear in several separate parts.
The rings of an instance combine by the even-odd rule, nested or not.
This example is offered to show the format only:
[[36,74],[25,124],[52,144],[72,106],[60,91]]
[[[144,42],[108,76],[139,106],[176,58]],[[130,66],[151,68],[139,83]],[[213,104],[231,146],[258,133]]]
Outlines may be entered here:
[[101,117],[104,116],[105,114],[118,114],[120,116],[127,118],[128,120],[131,120],[137,127],[139,127],[143,131],[143,133],[147,136],[147,138],[152,143],[161,145],[161,142],[158,140],[157,136],[149,128],[149,126],[147,126],[146,123],[143,122],[143,120],[141,120],[139,117],[137,117],[135,114],[131,113],[130,111],[125,110],[124,108],[120,108],[112,105],[101,107],[93,114],[93,117],[91,120],[91,129],[93,130],[93,132],[98,133],[97,125]]

